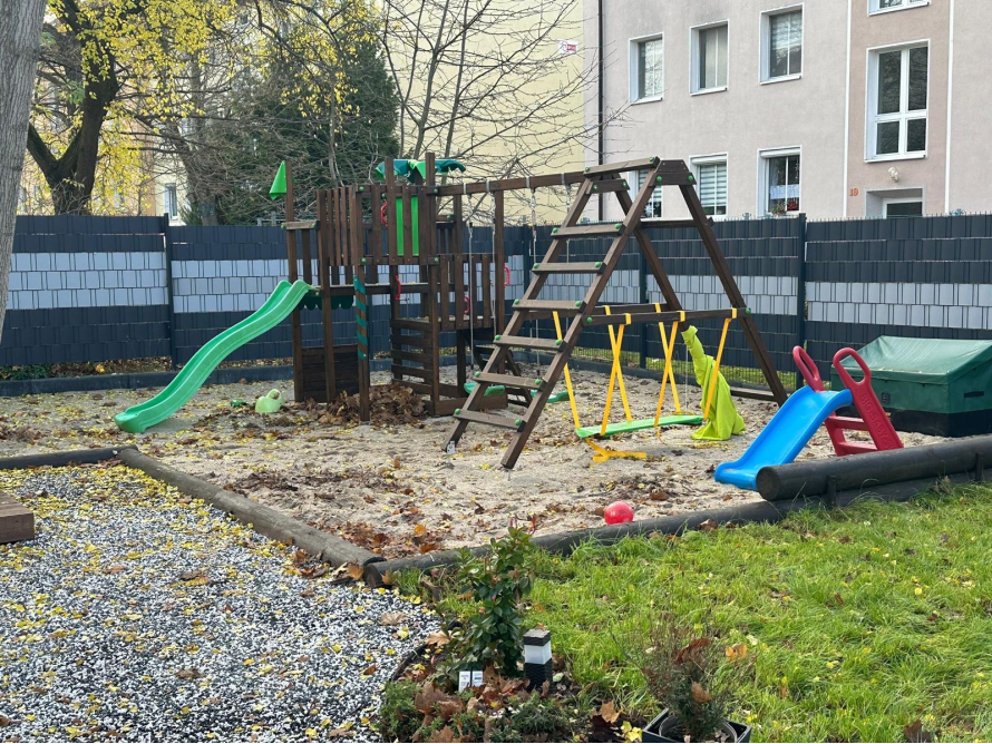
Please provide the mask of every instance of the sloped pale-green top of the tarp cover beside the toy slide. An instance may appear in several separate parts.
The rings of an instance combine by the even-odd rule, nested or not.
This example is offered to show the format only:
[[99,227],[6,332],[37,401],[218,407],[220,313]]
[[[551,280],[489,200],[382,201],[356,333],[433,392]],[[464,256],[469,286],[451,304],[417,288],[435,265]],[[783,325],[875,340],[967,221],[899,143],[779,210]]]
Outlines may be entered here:
[[[992,362],[992,341],[879,336],[858,353],[873,380],[946,385]],[[860,368],[853,359],[844,360],[844,368],[860,380]]]

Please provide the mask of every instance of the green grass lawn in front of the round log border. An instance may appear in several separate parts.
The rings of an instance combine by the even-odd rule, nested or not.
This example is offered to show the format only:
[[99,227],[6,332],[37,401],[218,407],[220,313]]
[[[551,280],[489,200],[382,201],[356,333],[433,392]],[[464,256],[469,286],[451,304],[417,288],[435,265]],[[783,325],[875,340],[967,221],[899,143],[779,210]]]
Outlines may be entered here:
[[806,512],[780,526],[538,554],[527,624],[591,692],[655,712],[615,639],[662,609],[749,646],[735,717],[756,741],[992,740],[992,489]]

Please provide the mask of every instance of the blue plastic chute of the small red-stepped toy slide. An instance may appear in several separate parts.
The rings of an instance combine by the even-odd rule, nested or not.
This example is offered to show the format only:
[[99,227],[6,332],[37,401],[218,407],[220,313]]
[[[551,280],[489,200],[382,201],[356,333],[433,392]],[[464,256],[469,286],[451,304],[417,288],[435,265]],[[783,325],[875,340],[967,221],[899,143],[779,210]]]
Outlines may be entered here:
[[761,468],[795,460],[827,417],[838,408],[850,405],[850,402],[849,390],[839,392],[816,392],[813,388],[797,390],[751,442],[740,460],[717,466],[717,481],[753,491]]

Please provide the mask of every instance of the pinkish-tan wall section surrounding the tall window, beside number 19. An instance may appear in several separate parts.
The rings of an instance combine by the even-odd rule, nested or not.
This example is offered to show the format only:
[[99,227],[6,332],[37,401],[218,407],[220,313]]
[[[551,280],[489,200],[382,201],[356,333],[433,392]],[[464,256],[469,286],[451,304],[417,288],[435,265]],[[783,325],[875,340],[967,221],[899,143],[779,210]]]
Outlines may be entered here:
[[[905,194],[905,189],[922,189],[924,214],[944,211],[949,29],[949,0],[935,0],[930,4],[910,6],[905,10],[871,16],[867,0],[854,0],[850,25],[847,216],[863,217],[866,213],[871,214],[872,193],[888,189],[898,189],[902,194]],[[865,149],[869,124],[866,118],[865,94],[869,50],[926,39],[930,40],[926,156],[869,160]],[[898,182],[893,180],[889,175],[891,168],[898,172]],[[856,195],[853,189],[857,189]]]

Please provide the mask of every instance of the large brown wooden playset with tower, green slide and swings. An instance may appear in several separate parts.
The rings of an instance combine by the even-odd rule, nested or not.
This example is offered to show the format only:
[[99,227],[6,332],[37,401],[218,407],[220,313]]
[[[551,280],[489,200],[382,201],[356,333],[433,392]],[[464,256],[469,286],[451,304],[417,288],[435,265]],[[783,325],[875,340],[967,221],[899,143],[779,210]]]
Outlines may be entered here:
[[[506,468],[513,468],[516,463],[547,402],[563,398],[562,392],[554,392],[554,386],[586,326],[606,325],[616,352],[625,326],[658,323],[667,349],[667,365],[662,398],[653,418],[634,421],[624,407],[626,422],[607,425],[604,419],[597,432],[589,431],[585,437],[593,433],[611,435],[660,425],[664,383],[671,381],[674,384],[671,352],[679,325],[704,317],[724,321],[721,350],[730,323],[736,321],[740,324],[757,365],[768,382],[768,390],[740,389],[733,392],[774,401],[779,405],[785,402],[785,389],[720,251],[712,223],[699,202],[694,177],[683,160],[651,157],[593,166],[585,172],[445,185],[436,183],[438,173],[444,174],[456,167],[461,168],[453,160],[438,161],[429,153],[422,163],[388,158],[381,166],[382,182],[318,190],[317,218],[296,219],[292,169],[290,164],[285,164],[284,170],[281,169],[284,187],[275,193],[284,193],[289,281],[279,285],[262,309],[205,344],[162,393],[115,417],[118,425],[126,431],[139,432],[172,415],[227,354],[285,317],[290,317],[291,324],[295,400],[329,402],[341,393],[357,394],[359,418],[369,421],[370,311],[372,298],[377,296],[388,297],[389,301],[392,380],[424,395],[430,415],[455,415],[457,422],[449,437],[449,451],[454,451],[469,423],[514,431],[509,449],[503,458]],[[624,174],[630,172],[643,172],[646,176],[644,185],[633,198],[628,193],[629,184],[624,179]],[[281,177],[276,180],[280,182]],[[523,297],[514,302],[514,312],[507,322],[505,194],[529,192],[533,203],[536,189],[561,186],[577,186],[576,194],[563,225],[553,231],[553,239],[544,258],[532,267],[533,280]],[[663,186],[679,188],[691,214],[689,219],[643,218],[651,195]],[[589,200],[606,194],[616,196],[624,217],[609,224],[580,224]],[[473,209],[473,197],[492,199],[492,253],[476,253],[473,249],[471,214],[468,217],[465,215],[466,202],[468,211]],[[730,306],[726,310],[684,311],[651,244],[646,227],[696,227]],[[612,238],[603,261],[560,261],[570,239],[592,237]],[[643,254],[663,302],[599,306],[600,296],[632,241]],[[400,281],[402,266],[416,267],[416,281]],[[388,274],[385,282],[380,280],[382,267]],[[538,297],[541,290],[552,275],[585,275],[592,278],[583,300],[542,300]],[[403,297],[407,295],[419,298],[418,317],[403,316],[402,310],[408,306]],[[303,342],[302,311],[308,309],[320,311],[321,334],[315,345],[304,345]],[[353,310],[357,324],[354,344],[335,344],[335,309]],[[525,335],[525,323],[550,317],[557,322],[558,339]],[[564,332],[562,319],[567,319]],[[664,341],[665,323],[671,323],[671,341]],[[499,329],[505,330],[497,334]],[[455,384],[440,379],[440,334],[445,332],[455,334]],[[551,352],[553,359],[541,376],[524,378],[514,359],[514,349]],[[469,379],[469,369],[476,364],[482,371]],[[621,385],[623,398],[619,364],[619,360],[614,360],[613,376]],[[612,390],[611,380],[611,400]],[[509,402],[523,404],[526,412],[513,418],[486,412],[487,409],[505,409]],[[678,400],[675,408],[680,413]],[[665,420],[663,423],[698,421],[696,417],[681,418],[685,420]],[[577,418],[576,429],[583,437]]]

